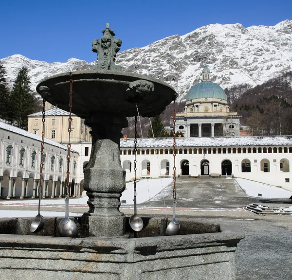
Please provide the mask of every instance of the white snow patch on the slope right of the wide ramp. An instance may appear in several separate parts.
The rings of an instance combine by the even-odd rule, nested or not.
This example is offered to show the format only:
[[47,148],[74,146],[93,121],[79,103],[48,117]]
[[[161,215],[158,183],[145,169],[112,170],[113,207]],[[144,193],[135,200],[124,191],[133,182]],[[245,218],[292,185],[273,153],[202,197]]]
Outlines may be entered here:
[[292,192],[275,186],[242,178],[237,178],[236,181],[241,189],[243,189],[249,196],[257,197],[258,193],[261,193],[262,197],[266,198],[289,198],[292,195]]

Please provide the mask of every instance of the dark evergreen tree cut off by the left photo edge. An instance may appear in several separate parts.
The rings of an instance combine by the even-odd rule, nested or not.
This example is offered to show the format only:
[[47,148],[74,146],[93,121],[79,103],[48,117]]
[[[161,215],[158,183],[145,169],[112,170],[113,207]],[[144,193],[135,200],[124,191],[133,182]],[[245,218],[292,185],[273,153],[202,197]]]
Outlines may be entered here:
[[6,69],[0,61],[0,118],[8,120],[9,89],[6,81]]

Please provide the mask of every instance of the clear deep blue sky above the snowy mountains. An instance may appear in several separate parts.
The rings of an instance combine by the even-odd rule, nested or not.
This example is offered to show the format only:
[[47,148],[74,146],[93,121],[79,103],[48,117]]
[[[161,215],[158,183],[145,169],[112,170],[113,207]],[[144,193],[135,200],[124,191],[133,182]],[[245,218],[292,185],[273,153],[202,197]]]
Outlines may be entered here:
[[285,19],[292,19],[291,0],[0,0],[0,59],[94,61],[91,41],[106,22],[123,51],[213,23],[272,26]]

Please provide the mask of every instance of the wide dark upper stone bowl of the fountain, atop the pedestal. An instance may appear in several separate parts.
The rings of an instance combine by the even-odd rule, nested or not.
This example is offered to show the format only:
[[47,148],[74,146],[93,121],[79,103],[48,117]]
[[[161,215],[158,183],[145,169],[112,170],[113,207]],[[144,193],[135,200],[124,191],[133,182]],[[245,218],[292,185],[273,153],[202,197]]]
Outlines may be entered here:
[[[75,71],[71,75],[72,112],[81,118],[97,112],[136,116],[136,104],[141,116],[153,117],[176,98],[172,87],[146,75],[115,70]],[[70,72],[43,79],[37,92],[52,105],[68,111]]]

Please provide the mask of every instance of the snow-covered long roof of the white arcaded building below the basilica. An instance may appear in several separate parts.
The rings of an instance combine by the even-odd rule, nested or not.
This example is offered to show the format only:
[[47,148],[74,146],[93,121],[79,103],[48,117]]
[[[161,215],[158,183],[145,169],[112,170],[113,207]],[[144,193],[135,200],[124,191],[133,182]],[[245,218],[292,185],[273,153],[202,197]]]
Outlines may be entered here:
[[[292,136],[182,137],[176,147],[292,146]],[[138,138],[137,147],[172,147],[172,138]],[[134,139],[121,140],[121,148],[134,148]]]

